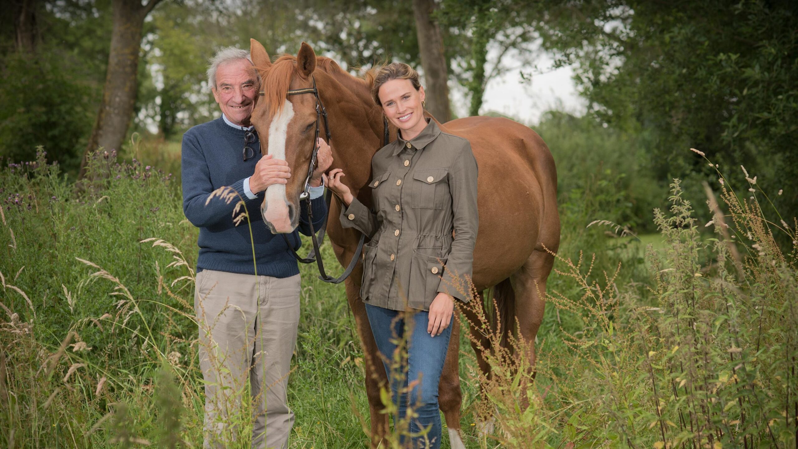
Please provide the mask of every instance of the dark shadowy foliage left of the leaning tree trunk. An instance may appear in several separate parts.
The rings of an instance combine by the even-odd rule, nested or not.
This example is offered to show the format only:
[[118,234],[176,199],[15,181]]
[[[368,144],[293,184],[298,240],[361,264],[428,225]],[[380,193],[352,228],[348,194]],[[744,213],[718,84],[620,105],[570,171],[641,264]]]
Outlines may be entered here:
[[[51,160],[74,174],[105,79],[109,4],[69,0],[30,6],[36,14],[34,53],[22,54],[10,35],[0,35],[0,157],[30,161],[43,145]],[[4,30],[14,32],[13,19],[0,18]]]

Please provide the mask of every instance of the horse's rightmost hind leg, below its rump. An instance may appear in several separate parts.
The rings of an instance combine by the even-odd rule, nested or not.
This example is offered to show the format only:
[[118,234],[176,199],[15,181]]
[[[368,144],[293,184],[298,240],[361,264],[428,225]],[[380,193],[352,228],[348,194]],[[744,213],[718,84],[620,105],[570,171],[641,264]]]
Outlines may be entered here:
[[[556,250],[557,245],[552,247]],[[553,266],[554,256],[538,245],[511,277],[513,290],[516,292],[518,335],[528,344],[526,356],[531,364],[528,368],[531,376],[534,376],[536,360],[535,336],[543,323],[543,310],[546,307],[546,280]]]

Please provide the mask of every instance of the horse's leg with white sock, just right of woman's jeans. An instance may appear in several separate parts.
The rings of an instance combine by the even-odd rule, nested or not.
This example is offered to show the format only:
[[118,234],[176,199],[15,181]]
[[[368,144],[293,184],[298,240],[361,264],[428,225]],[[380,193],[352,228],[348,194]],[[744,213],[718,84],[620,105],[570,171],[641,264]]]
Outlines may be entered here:
[[463,440],[460,438],[460,407],[463,403],[459,369],[460,322],[452,317],[450,326],[452,326],[452,336],[449,339],[444,371],[441,373],[440,383],[438,383],[438,407],[440,407],[440,411],[444,412],[449,444],[452,449],[465,449]]

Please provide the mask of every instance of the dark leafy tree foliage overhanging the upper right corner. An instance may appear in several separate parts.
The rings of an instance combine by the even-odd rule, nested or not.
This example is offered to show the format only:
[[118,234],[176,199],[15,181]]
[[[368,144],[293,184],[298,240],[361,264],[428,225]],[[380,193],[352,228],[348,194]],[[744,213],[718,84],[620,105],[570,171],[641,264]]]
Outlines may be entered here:
[[[773,190],[798,176],[796,2],[545,6],[544,46],[559,63],[576,64],[591,113],[650,133],[646,151],[657,177],[709,174],[674,147],[717,155],[722,167],[745,161]],[[778,200],[789,215],[798,210],[794,192]]]

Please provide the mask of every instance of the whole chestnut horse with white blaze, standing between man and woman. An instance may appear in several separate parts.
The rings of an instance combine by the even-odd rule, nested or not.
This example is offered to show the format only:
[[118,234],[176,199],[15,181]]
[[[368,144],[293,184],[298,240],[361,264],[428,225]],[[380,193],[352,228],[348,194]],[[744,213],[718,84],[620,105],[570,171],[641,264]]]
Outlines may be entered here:
[[[332,168],[343,169],[343,182],[365,205],[372,205],[368,189],[371,158],[382,146],[384,122],[381,108],[369,94],[369,81],[354,77],[329,58],[317,58],[306,43],[296,57],[283,55],[272,63],[263,46],[251,40],[251,58],[261,76],[261,90],[251,122],[258,130],[262,148],[274,157],[285,158],[291,173],[287,185],[267,189],[261,208],[264,220],[275,209],[288,214],[279,220],[298,223],[299,195],[314,145],[317,120],[316,98],[312,94],[287,96],[288,90],[310,89],[314,83],[326,105],[332,131]],[[559,247],[557,173],[554,159],[543,139],[527,126],[496,117],[467,117],[440,125],[446,133],[471,142],[479,166],[477,197],[480,228],[474,249],[472,281],[477,292],[494,289],[508,322],[517,319],[519,336],[531,344],[528,356],[534,363],[535,334],[543,320],[546,280],[554,258],[545,248]],[[396,129],[390,129],[391,139]],[[270,212],[271,211],[271,212]],[[342,228],[338,221],[339,201],[333,201],[327,232],[338,261],[346,266],[358,247],[354,228]],[[380,385],[386,375],[374,343],[365,306],[359,297],[361,264],[346,280],[346,296],[358,326],[358,335],[367,357],[365,388],[369,399],[372,445],[376,447],[389,431],[388,415],[381,414]],[[482,300],[480,293],[475,301]],[[478,303],[481,304],[481,303]],[[504,321],[504,319],[503,319]],[[506,331],[508,326],[504,327]],[[453,448],[464,447],[460,439],[460,377],[458,358],[460,328],[453,325],[444,373],[440,379],[440,410],[444,412]],[[477,356],[480,356],[478,348]],[[488,370],[484,360],[480,368]],[[487,372],[486,372],[487,374]]]

